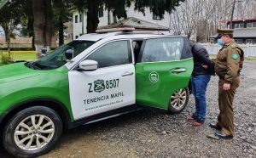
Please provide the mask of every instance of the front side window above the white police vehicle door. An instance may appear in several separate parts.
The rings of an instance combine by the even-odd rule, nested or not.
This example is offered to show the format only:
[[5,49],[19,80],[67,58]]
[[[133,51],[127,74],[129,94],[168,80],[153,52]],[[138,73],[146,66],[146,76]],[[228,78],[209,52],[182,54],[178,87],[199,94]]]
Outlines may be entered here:
[[99,48],[86,59],[93,59],[98,62],[98,67],[113,65],[125,65],[132,62],[131,48],[128,41],[110,42]]

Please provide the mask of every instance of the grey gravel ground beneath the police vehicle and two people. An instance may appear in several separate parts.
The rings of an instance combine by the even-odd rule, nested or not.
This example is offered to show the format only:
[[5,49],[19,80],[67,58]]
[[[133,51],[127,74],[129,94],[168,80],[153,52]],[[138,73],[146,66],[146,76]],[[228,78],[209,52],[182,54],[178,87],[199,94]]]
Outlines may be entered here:
[[[195,101],[182,113],[167,115],[158,110],[141,110],[110,120],[69,130],[45,157],[256,157],[256,62],[247,61],[235,97],[236,136],[214,140],[208,124],[218,116],[218,77],[207,88],[207,121],[193,127],[186,116]],[[0,150],[0,157],[9,157]]]

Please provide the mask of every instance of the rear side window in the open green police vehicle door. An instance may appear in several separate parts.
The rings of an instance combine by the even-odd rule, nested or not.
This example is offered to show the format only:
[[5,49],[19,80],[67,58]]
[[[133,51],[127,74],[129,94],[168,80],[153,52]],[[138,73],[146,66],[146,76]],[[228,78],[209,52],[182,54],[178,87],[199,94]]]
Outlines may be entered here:
[[148,39],[143,50],[142,62],[172,61],[181,59],[183,37]]

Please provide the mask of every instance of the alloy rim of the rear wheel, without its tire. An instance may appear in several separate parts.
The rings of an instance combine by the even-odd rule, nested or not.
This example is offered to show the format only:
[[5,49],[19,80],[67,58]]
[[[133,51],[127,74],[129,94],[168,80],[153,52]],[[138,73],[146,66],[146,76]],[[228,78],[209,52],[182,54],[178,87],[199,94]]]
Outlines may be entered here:
[[181,110],[187,99],[187,93],[184,88],[177,90],[171,97],[171,106],[176,110]]

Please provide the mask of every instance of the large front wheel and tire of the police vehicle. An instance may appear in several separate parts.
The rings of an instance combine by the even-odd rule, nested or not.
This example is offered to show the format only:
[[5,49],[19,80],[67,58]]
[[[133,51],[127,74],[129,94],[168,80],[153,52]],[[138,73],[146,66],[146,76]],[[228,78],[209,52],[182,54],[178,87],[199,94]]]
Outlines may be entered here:
[[3,130],[3,146],[15,157],[36,157],[51,150],[61,133],[62,121],[55,110],[34,106],[10,119]]

